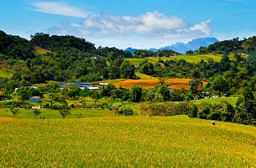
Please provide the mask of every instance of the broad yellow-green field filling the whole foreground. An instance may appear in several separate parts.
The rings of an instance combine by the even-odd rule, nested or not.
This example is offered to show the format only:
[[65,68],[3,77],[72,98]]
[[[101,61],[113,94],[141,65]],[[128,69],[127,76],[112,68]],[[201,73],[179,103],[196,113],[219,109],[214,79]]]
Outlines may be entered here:
[[185,117],[0,120],[0,167],[254,167],[256,127]]

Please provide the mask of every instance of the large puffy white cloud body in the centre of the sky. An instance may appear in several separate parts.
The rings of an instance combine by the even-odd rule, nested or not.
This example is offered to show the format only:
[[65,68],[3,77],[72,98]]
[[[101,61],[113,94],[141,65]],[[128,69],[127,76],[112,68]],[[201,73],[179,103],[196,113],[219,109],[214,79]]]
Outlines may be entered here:
[[166,16],[158,11],[138,17],[94,15],[82,22],[86,30],[104,34],[158,34],[186,27],[186,22],[176,16]]

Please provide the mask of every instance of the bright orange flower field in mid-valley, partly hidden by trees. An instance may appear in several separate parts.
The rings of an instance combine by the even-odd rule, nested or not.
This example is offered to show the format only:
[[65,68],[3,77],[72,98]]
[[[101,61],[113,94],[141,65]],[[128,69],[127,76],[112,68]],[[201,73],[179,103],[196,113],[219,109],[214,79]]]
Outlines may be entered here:
[[[169,78],[166,82],[170,83],[170,88],[174,89],[190,89],[190,78]],[[133,86],[142,87],[144,89],[150,90],[154,89],[154,86],[158,84],[158,79],[153,80],[125,80],[122,82],[117,82],[114,84],[116,87],[122,87],[125,89],[131,89]],[[206,86],[207,82],[203,82],[203,86]]]

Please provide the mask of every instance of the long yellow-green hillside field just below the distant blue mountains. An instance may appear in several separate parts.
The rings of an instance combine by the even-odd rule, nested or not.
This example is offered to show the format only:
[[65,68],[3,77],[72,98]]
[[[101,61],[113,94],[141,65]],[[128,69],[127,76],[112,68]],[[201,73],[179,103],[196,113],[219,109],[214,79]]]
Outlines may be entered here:
[[[208,58],[212,58],[214,62],[219,62],[222,59],[221,54],[184,54],[184,55],[177,55],[177,56],[170,56],[170,58],[161,58],[163,61],[166,60],[180,60],[180,59],[185,59],[186,62],[191,62],[191,63],[198,63],[202,59],[207,62]],[[149,62],[152,63],[157,63],[160,58],[127,58],[127,60],[131,63],[134,64],[134,66],[138,67],[139,64],[143,60],[148,60]],[[234,59],[234,55],[230,55],[230,59]]]

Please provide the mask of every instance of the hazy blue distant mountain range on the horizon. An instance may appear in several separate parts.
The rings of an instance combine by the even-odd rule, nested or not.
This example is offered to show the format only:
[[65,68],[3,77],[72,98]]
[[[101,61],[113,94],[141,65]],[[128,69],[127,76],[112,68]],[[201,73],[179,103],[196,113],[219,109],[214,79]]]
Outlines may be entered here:
[[[150,51],[158,51],[158,50],[174,50],[178,53],[185,54],[188,50],[198,50],[201,46],[210,46],[211,44],[214,44],[215,42],[219,42],[217,38],[196,38],[190,42],[183,43],[183,42],[177,42],[172,46],[165,46],[160,49],[154,49],[151,48]],[[131,54],[134,54],[134,52],[137,49],[133,48],[127,48],[127,51],[129,51]]]

